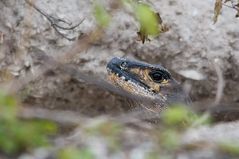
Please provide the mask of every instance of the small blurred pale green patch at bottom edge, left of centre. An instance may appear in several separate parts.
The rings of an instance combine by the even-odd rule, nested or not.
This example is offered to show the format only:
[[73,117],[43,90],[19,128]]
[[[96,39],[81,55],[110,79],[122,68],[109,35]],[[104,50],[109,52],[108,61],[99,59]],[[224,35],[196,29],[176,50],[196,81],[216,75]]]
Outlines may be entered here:
[[94,159],[95,157],[89,149],[68,147],[68,148],[59,150],[58,158],[59,159]]

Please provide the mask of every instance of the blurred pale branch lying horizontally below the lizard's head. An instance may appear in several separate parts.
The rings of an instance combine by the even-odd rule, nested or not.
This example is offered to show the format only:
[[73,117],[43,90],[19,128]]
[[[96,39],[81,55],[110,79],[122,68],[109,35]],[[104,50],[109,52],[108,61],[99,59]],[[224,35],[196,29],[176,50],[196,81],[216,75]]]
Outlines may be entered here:
[[[22,107],[18,114],[19,118],[27,120],[29,119],[49,120],[63,126],[78,126],[81,123],[86,123],[90,122],[91,120],[95,120],[95,118],[89,118],[73,111],[49,110],[32,107],[33,106]],[[128,115],[125,115],[124,118],[122,118],[122,116],[118,117],[107,116],[107,117],[108,117],[107,119],[110,121],[119,122],[121,124],[134,125],[143,130],[150,130],[152,128],[149,123]]]

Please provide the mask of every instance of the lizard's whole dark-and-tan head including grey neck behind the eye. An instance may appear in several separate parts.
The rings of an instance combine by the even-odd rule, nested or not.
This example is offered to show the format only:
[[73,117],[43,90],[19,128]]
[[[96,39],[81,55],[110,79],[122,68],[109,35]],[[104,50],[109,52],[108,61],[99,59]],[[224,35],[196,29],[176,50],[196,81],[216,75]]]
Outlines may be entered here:
[[108,79],[124,91],[159,99],[160,106],[184,102],[186,94],[170,72],[161,65],[114,57],[107,64]]

